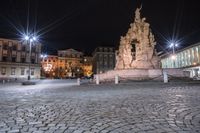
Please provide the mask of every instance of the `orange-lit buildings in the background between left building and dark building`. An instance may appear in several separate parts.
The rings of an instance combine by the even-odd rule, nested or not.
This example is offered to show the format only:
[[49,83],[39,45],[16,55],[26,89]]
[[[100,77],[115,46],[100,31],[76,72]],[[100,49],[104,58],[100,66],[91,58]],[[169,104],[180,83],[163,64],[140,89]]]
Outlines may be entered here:
[[74,49],[59,50],[58,55],[48,55],[41,60],[42,72],[49,78],[75,78],[92,74],[91,57],[84,57]]

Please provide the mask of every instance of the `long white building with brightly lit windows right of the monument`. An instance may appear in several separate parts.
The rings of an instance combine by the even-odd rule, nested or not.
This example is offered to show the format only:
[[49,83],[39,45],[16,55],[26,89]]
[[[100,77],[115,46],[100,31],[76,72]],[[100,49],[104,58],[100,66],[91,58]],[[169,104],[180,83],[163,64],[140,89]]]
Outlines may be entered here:
[[183,68],[190,71],[190,77],[200,77],[200,43],[161,56],[162,68]]

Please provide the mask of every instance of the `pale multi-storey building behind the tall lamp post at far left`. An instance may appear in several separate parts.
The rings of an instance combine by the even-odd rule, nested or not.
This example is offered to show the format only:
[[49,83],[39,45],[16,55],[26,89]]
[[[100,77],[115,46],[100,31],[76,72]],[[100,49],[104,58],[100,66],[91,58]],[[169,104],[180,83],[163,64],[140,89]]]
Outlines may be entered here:
[[32,44],[31,56],[29,49],[26,42],[0,38],[0,79],[26,79],[29,65],[31,78],[40,78],[41,44]]

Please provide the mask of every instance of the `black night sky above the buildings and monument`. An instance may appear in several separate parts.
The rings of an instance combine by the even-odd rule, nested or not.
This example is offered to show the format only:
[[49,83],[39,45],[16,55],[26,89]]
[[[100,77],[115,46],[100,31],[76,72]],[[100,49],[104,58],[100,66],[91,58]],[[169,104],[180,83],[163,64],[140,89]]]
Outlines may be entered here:
[[167,49],[167,40],[178,40],[179,48],[200,41],[197,0],[1,0],[0,37],[20,39],[29,27],[46,53],[74,48],[89,54],[97,46],[118,47],[141,4],[158,50]]

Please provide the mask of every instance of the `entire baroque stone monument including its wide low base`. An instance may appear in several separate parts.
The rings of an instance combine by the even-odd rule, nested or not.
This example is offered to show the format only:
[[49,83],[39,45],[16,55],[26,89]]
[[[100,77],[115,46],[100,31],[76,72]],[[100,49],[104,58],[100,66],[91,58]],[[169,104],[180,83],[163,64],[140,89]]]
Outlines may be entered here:
[[[161,80],[163,73],[176,77],[188,77],[181,69],[161,69],[160,58],[155,50],[155,39],[150,24],[141,18],[141,8],[135,11],[135,20],[127,34],[121,37],[116,55],[115,70],[96,74],[96,81]],[[117,78],[116,78],[117,77]]]

